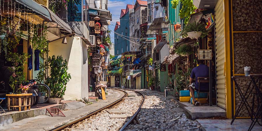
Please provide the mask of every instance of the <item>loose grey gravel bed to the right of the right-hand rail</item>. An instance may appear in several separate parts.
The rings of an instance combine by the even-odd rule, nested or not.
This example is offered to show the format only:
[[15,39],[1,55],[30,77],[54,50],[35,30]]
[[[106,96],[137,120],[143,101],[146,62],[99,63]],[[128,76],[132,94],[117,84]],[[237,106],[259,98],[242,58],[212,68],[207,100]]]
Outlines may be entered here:
[[179,107],[176,100],[165,98],[163,93],[157,91],[148,91],[146,89],[138,91],[146,96],[146,100],[134,123],[125,130],[201,130],[201,126],[197,121],[192,121],[185,116],[183,109]]

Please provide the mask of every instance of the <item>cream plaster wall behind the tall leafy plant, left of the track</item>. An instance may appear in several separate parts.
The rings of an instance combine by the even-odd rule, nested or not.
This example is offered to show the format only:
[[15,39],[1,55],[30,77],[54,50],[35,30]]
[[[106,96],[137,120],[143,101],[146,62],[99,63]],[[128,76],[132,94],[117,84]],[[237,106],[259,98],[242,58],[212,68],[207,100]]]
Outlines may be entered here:
[[64,99],[80,100],[88,98],[88,60],[85,43],[78,36],[66,37],[67,44],[62,44],[63,39],[49,43],[49,56],[62,55],[68,61],[68,73],[71,75],[67,83]]

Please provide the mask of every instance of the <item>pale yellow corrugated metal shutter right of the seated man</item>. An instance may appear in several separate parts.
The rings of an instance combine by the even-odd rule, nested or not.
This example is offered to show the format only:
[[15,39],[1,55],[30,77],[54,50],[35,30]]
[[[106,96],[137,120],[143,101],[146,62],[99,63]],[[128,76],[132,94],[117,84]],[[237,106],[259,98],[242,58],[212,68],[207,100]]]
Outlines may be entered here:
[[224,30],[224,1],[218,0],[215,7],[216,28],[216,68],[217,68],[217,105],[226,109],[226,77],[225,63],[225,30]]

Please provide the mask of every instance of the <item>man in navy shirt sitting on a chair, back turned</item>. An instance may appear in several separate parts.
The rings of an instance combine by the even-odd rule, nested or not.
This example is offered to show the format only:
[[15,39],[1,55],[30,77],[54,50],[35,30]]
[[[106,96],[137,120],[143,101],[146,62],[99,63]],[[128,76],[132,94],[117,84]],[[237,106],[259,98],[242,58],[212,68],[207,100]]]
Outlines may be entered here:
[[[199,105],[199,102],[195,99],[195,91],[199,90],[199,82],[197,80],[197,77],[209,77],[209,68],[208,66],[204,65],[203,60],[197,60],[197,63],[199,64],[197,67],[193,68],[191,75],[190,75],[190,92],[192,94],[192,100],[194,101],[194,105]],[[193,83],[194,78],[196,79],[196,82]],[[209,84],[203,83],[201,84],[200,91],[208,91],[209,90]]]

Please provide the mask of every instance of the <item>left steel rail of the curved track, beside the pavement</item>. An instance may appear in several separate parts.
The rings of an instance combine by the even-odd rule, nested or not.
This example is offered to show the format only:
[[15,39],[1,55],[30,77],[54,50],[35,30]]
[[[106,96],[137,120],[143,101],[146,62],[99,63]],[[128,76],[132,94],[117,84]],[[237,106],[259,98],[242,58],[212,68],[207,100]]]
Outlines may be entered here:
[[[110,88],[110,89],[118,90],[118,91],[123,91],[123,90],[119,90],[119,89],[117,89],[117,88]],[[77,118],[77,119],[75,119],[75,120],[73,120],[73,121],[70,121],[70,122],[65,123],[65,124],[63,124],[63,125],[60,125],[60,126],[58,126],[58,127],[56,127],[56,128],[53,128],[53,129],[51,129],[51,130],[49,130],[49,131],[59,131],[59,130],[62,130],[62,129],[64,129],[64,128],[67,128],[67,127],[70,126],[70,125],[73,125],[73,124],[75,124],[75,123],[78,123],[78,122],[80,122],[80,121],[83,121],[84,119],[89,118],[90,116],[93,116],[93,115],[97,114],[98,112],[100,112],[100,111],[102,111],[102,110],[104,110],[104,109],[107,109],[107,108],[109,108],[109,107],[112,107],[112,106],[116,105],[117,103],[121,102],[126,96],[128,96],[128,93],[127,93],[127,92],[125,92],[125,91],[123,91],[123,92],[125,93],[125,95],[124,95],[123,97],[121,97],[120,99],[116,100],[115,102],[113,102],[113,103],[111,103],[111,104],[109,104],[109,105],[107,105],[107,106],[105,106],[105,107],[102,107],[102,108],[100,108],[100,109],[97,109],[97,110],[95,110],[95,111],[87,114],[86,116],[82,116],[82,117],[80,117],[80,118]]]

